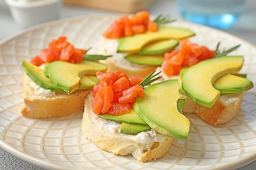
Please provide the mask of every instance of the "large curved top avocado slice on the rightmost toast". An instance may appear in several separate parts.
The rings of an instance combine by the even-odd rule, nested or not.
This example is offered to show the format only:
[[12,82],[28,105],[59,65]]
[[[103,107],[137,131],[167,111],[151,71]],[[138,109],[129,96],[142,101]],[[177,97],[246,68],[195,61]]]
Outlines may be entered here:
[[228,73],[238,72],[243,63],[243,56],[223,56],[203,60],[189,67],[181,77],[182,88],[196,103],[212,107],[221,95],[221,92],[213,87],[215,80]]

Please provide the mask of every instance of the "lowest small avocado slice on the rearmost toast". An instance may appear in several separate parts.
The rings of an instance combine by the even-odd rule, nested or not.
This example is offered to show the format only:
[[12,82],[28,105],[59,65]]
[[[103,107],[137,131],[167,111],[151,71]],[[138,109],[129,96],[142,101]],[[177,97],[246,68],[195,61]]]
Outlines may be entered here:
[[163,55],[139,55],[139,54],[130,54],[125,56],[125,59],[131,63],[136,63],[139,65],[161,65],[163,63]]

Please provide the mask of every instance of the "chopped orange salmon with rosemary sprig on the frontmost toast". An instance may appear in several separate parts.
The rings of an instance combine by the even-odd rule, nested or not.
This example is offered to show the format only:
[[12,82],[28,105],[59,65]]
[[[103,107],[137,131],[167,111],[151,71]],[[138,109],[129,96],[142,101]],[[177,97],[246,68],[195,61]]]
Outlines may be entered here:
[[129,112],[137,95],[144,97],[144,86],[158,80],[160,73],[148,75],[144,80],[137,76],[128,78],[123,71],[96,73],[100,82],[93,88],[95,114],[120,115]]

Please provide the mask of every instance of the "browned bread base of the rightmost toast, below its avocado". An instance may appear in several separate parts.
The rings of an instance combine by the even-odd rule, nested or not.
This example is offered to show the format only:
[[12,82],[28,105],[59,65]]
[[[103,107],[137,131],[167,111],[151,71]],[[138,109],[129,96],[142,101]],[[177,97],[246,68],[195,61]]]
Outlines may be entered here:
[[221,95],[211,108],[203,107],[192,101],[190,97],[186,97],[182,111],[184,113],[196,113],[210,124],[226,124],[238,114],[243,97],[244,92]]

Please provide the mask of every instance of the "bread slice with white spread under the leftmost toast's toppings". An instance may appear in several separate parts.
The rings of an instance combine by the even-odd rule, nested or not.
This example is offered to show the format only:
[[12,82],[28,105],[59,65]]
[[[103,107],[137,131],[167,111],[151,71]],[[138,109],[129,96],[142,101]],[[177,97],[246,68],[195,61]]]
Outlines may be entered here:
[[[51,118],[67,116],[83,112],[84,100],[91,90],[81,90],[71,94],[43,90],[35,84],[26,74],[23,76],[23,90],[25,107],[21,113],[28,118]],[[43,90],[45,93],[40,93]]]

